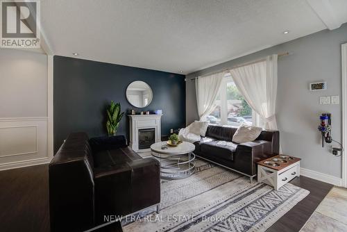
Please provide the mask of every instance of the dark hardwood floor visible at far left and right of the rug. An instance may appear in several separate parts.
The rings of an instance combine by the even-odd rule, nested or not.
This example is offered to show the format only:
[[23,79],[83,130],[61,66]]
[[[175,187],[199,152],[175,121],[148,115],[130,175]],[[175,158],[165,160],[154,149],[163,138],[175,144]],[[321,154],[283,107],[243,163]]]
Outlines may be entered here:
[[[292,184],[310,191],[267,231],[299,231],[332,185],[301,176]],[[0,172],[0,231],[49,231],[48,165]]]

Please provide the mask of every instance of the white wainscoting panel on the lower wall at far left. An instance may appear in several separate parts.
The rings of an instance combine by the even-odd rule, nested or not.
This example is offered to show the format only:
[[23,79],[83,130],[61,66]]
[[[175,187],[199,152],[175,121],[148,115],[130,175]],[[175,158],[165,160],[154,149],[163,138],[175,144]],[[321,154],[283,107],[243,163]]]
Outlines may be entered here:
[[47,117],[0,118],[0,170],[49,163]]

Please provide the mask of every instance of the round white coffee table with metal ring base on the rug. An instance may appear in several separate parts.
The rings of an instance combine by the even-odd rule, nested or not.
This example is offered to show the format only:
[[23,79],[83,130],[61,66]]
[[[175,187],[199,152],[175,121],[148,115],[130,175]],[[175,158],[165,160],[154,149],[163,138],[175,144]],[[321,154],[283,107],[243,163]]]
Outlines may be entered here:
[[151,154],[160,161],[162,179],[183,179],[194,173],[195,150],[192,142],[171,147],[167,141],[151,145]]

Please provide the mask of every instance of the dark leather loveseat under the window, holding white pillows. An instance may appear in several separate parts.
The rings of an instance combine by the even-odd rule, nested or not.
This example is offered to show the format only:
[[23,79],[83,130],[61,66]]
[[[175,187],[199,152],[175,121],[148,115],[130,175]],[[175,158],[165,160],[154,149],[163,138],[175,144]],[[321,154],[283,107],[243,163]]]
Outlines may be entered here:
[[194,154],[250,176],[252,181],[257,174],[256,163],[279,153],[280,133],[262,131],[255,141],[237,144],[232,142],[236,131],[234,127],[209,125],[205,137],[194,142]]

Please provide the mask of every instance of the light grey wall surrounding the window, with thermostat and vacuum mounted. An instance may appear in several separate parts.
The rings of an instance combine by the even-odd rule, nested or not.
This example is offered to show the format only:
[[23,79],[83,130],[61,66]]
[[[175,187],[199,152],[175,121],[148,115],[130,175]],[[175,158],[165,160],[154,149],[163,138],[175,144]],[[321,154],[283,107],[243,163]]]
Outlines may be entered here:
[[[341,157],[332,156],[330,145],[321,147],[317,126],[321,113],[332,113],[332,138],[341,142],[341,104],[319,105],[319,96],[339,95],[341,101],[341,44],[345,42],[347,24],[187,75],[187,124],[198,118],[194,81],[189,78],[289,51],[291,55],[278,60],[276,117],[283,153],[302,158],[305,169],[340,179]],[[308,84],[322,80],[328,82],[328,90],[310,92]]]

